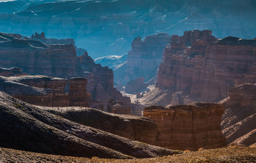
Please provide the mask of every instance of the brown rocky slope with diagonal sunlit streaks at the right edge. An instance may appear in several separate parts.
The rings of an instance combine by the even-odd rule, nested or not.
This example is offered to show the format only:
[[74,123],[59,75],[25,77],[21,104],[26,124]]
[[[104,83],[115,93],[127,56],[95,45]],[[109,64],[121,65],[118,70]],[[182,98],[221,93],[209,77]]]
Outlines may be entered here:
[[230,88],[221,128],[228,144],[253,145],[256,142],[256,84]]

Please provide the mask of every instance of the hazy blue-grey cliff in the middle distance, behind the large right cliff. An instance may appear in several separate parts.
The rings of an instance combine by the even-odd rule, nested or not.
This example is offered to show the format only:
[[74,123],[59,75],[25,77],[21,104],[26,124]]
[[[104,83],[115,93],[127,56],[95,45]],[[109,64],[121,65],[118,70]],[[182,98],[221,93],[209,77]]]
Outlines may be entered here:
[[141,76],[146,82],[155,77],[163,49],[170,39],[171,36],[165,33],[146,36],[143,41],[140,36],[136,37],[132,42],[132,50],[128,52],[124,84]]

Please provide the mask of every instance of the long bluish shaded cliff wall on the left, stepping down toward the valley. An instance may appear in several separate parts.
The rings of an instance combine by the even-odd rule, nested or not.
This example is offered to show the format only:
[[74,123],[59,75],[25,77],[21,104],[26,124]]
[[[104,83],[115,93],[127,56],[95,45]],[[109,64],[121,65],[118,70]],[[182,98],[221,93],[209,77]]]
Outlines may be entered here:
[[31,75],[42,74],[67,79],[84,77],[88,80],[86,90],[91,93],[92,99],[103,101],[105,106],[109,98],[130,105],[129,97],[123,97],[114,88],[113,71],[108,67],[95,64],[88,53],[77,57],[72,44],[40,42],[42,39],[51,43],[73,43],[72,39],[69,42],[68,39],[45,39],[43,33],[36,34],[34,40],[17,39],[14,37],[15,34],[1,35],[5,41],[0,42],[0,67],[21,67],[24,72]]

